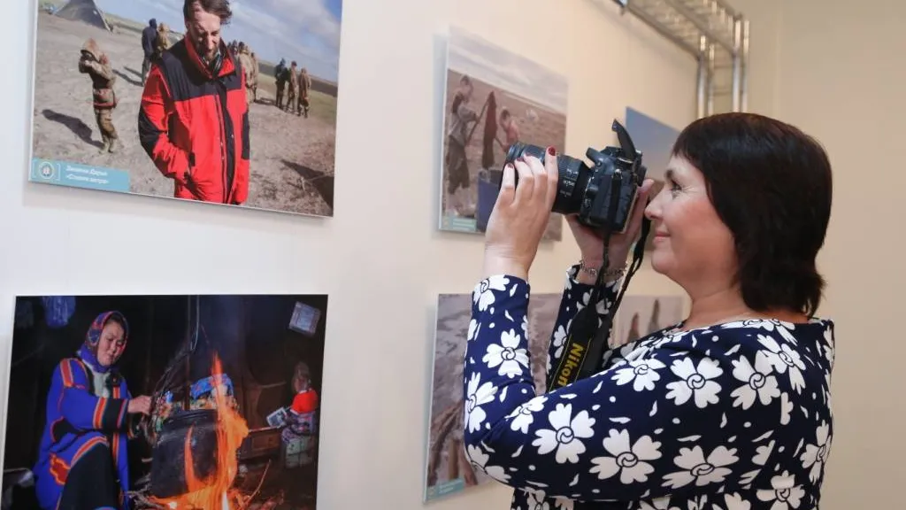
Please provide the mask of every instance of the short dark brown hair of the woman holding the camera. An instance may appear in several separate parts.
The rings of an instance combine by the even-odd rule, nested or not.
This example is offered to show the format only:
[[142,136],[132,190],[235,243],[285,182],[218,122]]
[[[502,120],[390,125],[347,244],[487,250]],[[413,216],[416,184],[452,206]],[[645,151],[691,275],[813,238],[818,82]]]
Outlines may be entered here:
[[718,217],[733,233],[747,307],[813,316],[825,286],[815,258],[833,191],[821,144],[764,115],[721,113],[689,124],[673,155],[702,172]]

